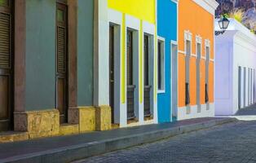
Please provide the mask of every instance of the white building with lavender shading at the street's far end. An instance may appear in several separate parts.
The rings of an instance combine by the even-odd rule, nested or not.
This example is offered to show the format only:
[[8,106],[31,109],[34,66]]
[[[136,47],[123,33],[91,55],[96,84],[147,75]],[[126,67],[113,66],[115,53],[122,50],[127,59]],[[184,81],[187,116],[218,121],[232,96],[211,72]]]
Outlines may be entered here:
[[[256,37],[241,23],[229,20],[226,32],[216,37],[215,115],[221,116],[256,103]],[[219,30],[217,25],[215,29]]]

